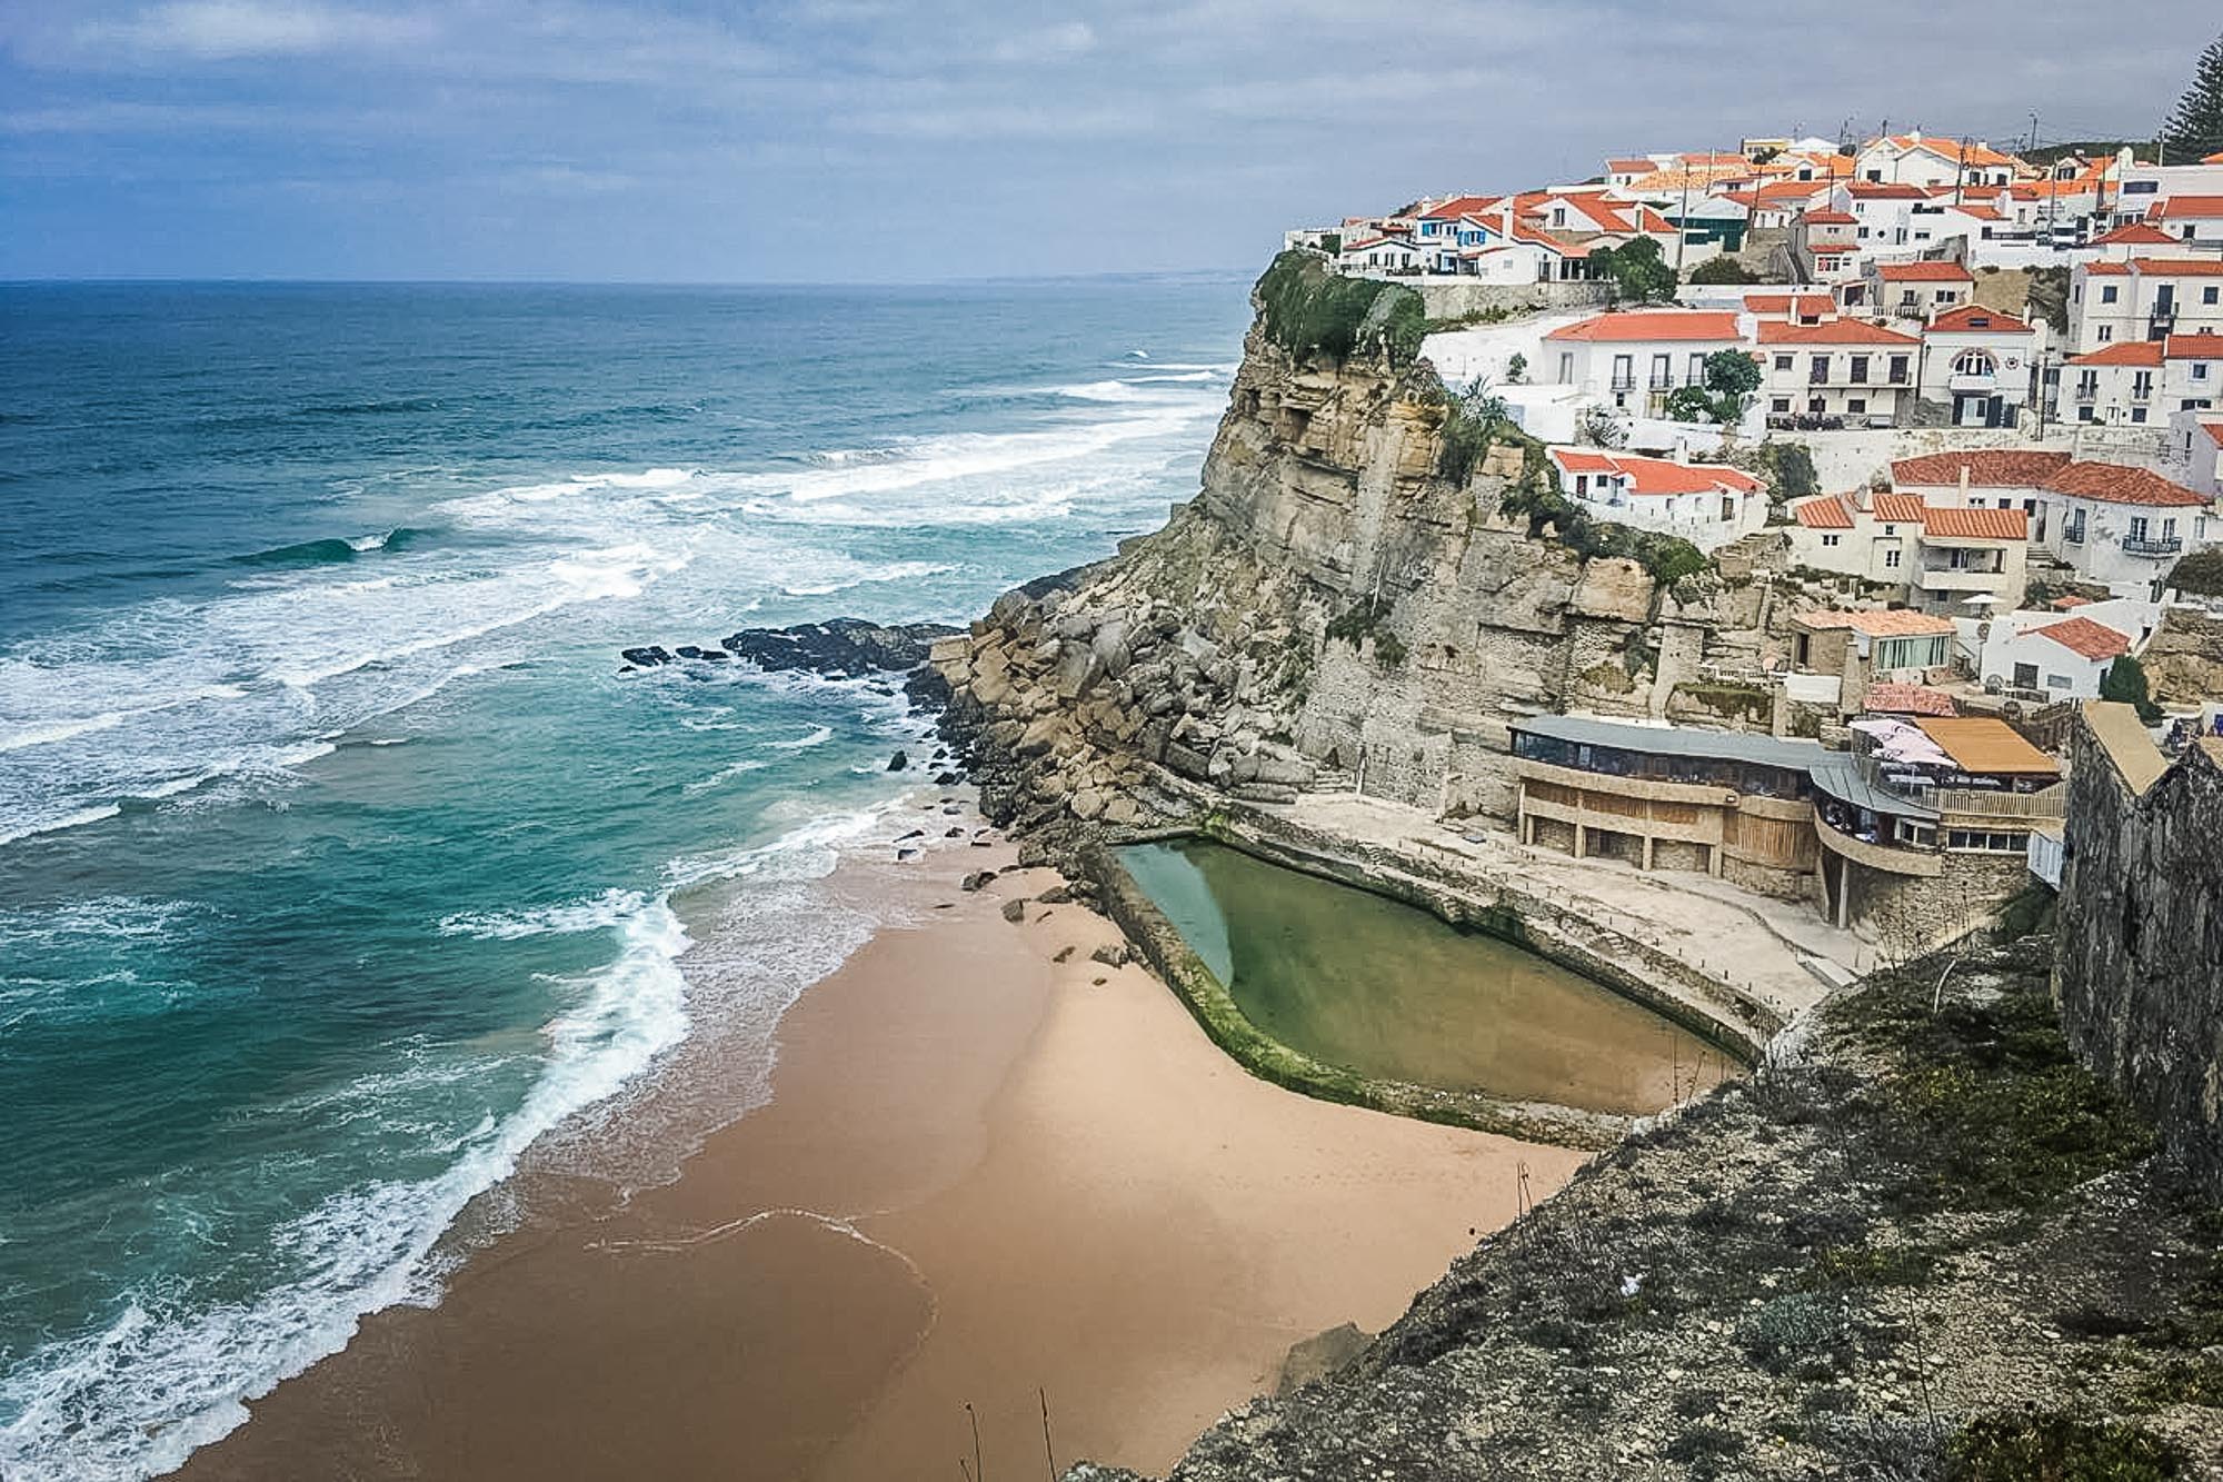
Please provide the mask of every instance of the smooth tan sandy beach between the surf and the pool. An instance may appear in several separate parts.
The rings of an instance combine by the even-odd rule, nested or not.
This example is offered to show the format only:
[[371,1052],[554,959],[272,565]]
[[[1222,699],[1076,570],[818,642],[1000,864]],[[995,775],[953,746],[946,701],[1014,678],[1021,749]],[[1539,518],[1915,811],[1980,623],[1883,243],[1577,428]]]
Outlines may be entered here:
[[[1007,848],[867,866],[880,930],[780,1021],[771,1104],[620,1208],[389,1308],[187,1478],[1045,1475],[1169,1466],[1323,1328],[1378,1328],[1563,1148],[1247,1077]],[[685,964],[685,959],[682,959]],[[531,1177],[531,1175],[525,1175]]]

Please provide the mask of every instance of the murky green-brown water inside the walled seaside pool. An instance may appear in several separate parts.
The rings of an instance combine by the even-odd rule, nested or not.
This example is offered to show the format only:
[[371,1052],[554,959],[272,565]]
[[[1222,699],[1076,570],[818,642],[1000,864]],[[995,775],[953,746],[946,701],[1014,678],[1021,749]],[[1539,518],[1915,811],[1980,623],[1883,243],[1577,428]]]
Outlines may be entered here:
[[1120,850],[1260,1030],[1363,1075],[1643,1115],[1721,1048],[1509,941],[1209,841]]

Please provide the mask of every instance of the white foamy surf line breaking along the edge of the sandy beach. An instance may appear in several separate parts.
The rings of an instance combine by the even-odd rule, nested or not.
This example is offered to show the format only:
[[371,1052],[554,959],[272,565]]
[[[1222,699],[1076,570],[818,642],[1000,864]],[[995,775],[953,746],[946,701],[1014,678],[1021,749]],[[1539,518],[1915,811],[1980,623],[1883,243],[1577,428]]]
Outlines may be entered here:
[[[0,1413],[13,1415],[0,1426],[0,1473],[140,1482],[173,1471],[245,1424],[249,1400],[345,1348],[371,1313],[438,1304],[433,1255],[462,1211],[509,1179],[527,1148],[616,1099],[687,1039],[689,988],[678,961],[694,939],[674,897],[722,881],[823,879],[847,850],[887,832],[905,806],[898,794],[823,814],[769,843],[674,859],[656,892],[614,888],[445,917],[436,930],[458,939],[609,932],[618,946],[609,964],[574,979],[578,1001],[542,1026],[545,1066],[525,1101],[462,1137],[438,1177],[360,1184],[282,1226],[273,1244],[298,1257],[298,1275],[256,1300],[180,1311],[169,1293],[138,1291],[107,1328],[31,1351],[0,1375]],[[782,959],[789,977],[778,984],[771,1019],[856,946],[863,937],[809,961]],[[458,1061],[402,1075],[438,1073],[473,1068]],[[351,1086],[347,1095],[367,1090]]]

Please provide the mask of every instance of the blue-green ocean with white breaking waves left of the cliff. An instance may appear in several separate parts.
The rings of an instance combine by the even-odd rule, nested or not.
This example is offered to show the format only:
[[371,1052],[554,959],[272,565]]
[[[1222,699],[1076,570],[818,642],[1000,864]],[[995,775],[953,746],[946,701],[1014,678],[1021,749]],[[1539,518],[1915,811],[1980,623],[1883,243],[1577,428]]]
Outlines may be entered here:
[[[669,1177],[642,1086],[765,1075],[931,743],[618,648],[1109,554],[1194,494],[1245,320],[1236,278],[0,287],[0,1473],[176,1466],[436,1302],[527,1146]],[[749,928],[682,972],[709,886]]]

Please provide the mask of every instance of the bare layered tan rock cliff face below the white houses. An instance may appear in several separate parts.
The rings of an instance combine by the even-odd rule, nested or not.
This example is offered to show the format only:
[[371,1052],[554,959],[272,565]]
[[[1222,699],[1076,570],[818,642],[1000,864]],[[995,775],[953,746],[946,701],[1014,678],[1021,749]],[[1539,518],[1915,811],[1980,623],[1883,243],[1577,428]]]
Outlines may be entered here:
[[1634,561],[1532,539],[1505,510],[1521,447],[1454,483],[1447,421],[1425,365],[1296,363],[1254,327],[1200,494],[936,648],[989,806],[1132,821],[1167,801],[1158,763],[1267,801],[1363,783],[1509,812],[1512,717],[1665,714],[1758,623],[1754,587],[1707,576],[1678,603]]

